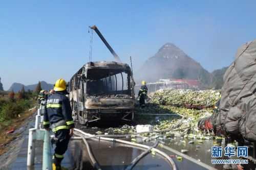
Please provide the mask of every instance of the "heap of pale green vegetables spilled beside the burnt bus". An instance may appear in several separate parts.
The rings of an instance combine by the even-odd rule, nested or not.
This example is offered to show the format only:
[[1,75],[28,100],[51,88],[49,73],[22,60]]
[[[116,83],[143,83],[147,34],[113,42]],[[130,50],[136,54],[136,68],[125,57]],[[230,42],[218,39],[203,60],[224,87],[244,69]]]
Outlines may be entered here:
[[[143,114],[154,114],[154,132],[141,134],[147,139],[167,139],[183,137],[188,143],[200,143],[205,139],[211,139],[211,132],[202,132],[198,129],[198,121],[213,113],[213,107],[220,99],[219,90],[159,90],[150,95],[150,102],[141,109],[136,107],[135,114],[143,117]],[[206,106],[204,109],[189,109],[185,105]],[[178,116],[158,116],[157,114],[177,114]],[[135,126],[124,125],[120,128],[105,129],[97,134],[133,134]],[[139,142],[136,136],[132,141]]]

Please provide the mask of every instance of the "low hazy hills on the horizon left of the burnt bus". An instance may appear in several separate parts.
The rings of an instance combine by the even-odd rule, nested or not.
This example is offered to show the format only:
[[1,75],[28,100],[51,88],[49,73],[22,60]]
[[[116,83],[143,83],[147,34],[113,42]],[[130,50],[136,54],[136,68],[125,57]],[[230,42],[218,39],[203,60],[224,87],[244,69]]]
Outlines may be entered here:
[[[32,85],[23,85],[21,83],[13,83],[11,85],[11,87],[9,88],[9,91],[13,90],[14,92],[18,92],[19,90],[22,89],[22,87],[24,86],[25,87],[25,90],[34,90],[36,88],[36,84],[32,84]],[[49,84],[45,81],[41,81],[41,88],[44,89],[44,90],[50,90],[50,89],[53,89],[53,84]]]

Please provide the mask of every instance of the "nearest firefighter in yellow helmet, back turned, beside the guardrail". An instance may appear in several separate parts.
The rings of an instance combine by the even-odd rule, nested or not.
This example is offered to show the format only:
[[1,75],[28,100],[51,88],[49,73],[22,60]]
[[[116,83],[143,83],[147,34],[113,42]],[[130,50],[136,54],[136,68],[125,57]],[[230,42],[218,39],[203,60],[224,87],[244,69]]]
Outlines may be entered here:
[[53,155],[53,170],[65,169],[61,167],[61,161],[68,149],[69,139],[73,135],[74,121],[70,101],[67,98],[66,81],[59,79],[54,84],[54,93],[48,95],[46,112],[44,115],[44,128],[49,130],[52,126],[55,135],[55,153]]

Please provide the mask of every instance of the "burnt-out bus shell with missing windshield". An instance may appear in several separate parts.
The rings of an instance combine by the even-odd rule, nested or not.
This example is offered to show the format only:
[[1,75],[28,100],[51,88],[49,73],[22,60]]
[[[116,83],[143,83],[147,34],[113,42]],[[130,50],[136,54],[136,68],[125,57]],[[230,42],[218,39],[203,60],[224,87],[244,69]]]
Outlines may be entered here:
[[74,119],[81,125],[98,120],[133,120],[134,86],[127,64],[100,61],[83,65],[69,84]]

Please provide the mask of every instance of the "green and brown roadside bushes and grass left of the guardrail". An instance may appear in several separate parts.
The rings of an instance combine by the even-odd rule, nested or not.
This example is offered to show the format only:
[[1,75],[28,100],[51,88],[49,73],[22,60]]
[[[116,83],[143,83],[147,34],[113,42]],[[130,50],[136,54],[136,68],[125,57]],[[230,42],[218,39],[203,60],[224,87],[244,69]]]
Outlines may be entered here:
[[23,126],[36,111],[36,98],[40,90],[39,85],[35,91],[25,91],[24,87],[17,93],[0,91],[0,155],[5,153],[5,146],[19,135],[15,130]]

